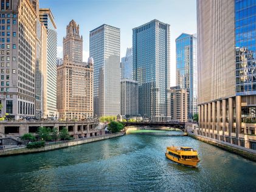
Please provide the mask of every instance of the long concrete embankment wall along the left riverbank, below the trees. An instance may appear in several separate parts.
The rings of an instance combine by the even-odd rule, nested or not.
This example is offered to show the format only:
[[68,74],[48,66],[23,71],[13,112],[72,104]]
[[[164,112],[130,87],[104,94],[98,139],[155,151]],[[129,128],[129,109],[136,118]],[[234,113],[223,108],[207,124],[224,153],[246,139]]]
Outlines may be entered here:
[[0,157],[1,156],[12,156],[12,155],[18,155],[18,154],[39,153],[39,152],[43,152],[43,151],[52,151],[55,149],[67,148],[69,146],[82,145],[85,143],[91,143],[91,142],[97,142],[100,140],[111,139],[114,137],[122,136],[124,134],[125,134],[124,132],[119,132],[116,134],[106,134],[106,135],[99,135],[99,136],[95,136],[95,137],[88,137],[86,139],[81,139],[81,140],[57,142],[57,143],[53,143],[50,145],[46,145],[41,148],[34,148],[34,149],[22,148],[22,149],[10,150],[10,151],[0,151]]

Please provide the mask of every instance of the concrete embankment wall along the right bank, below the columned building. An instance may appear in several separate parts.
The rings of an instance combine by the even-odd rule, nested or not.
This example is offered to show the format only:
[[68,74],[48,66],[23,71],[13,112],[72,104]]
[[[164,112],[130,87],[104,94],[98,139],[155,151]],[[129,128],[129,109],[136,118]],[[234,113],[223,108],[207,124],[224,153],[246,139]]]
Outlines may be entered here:
[[188,135],[195,139],[201,140],[202,142],[206,142],[206,143],[209,143],[210,145],[218,146],[219,148],[223,148],[232,153],[246,157],[247,159],[256,161],[256,153],[254,151],[252,151],[252,149],[246,149],[246,150],[240,149],[240,148],[238,148],[239,146],[234,146],[233,144],[230,144],[230,143],[226,143],[226,142],[224,143],[224,142],[212,139],[212,138],[207,138],[207,137],[204,137],[201,135],[195,135],[192,133],[188,133]]

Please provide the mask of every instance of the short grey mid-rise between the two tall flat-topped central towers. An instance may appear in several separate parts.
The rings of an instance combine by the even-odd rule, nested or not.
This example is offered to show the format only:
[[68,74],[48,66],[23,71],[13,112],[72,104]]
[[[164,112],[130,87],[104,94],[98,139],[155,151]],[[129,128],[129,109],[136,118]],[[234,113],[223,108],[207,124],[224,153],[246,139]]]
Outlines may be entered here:
[[130,79],[121,80],[121,115],[138,115],[138,83]]

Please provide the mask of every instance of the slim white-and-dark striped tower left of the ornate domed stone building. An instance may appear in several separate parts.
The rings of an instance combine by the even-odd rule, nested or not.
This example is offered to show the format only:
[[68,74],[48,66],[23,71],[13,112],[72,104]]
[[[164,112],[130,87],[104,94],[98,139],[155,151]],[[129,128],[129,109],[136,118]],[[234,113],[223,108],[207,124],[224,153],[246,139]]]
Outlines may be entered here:
[[57,27],[50,9],[40,9],[39,14],[40,21],[47,30],[47,60],[46,74],[44,74],[46,90],[43,92],[45,108],[42,115],[44,117],[57,117]]

